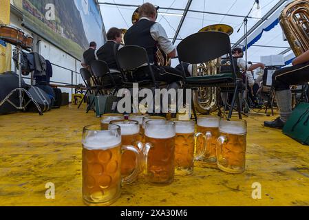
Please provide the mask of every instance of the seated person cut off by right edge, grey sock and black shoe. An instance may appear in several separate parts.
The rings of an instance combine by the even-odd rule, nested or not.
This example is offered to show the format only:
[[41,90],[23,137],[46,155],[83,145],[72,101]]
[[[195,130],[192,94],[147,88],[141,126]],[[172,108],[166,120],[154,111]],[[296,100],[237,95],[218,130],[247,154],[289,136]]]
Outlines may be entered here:
[[272,122],[264,122],[264,126],[283,129],[292,113],[291,85],[301,85],[309,81],[309,51],[292,61],[292,67],[278,69],[273,74],[275,98],[280,111],[280,117]]

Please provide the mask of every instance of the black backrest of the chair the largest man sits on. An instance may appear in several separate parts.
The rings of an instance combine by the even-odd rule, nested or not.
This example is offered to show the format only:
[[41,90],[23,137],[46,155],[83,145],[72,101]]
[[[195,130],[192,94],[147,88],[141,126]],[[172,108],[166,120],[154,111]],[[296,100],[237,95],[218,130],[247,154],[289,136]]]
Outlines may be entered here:
[[149,64],[149,58],[145,48],[135,45],[128,45],[118,50],[116,60],[120,69],[132,70]]

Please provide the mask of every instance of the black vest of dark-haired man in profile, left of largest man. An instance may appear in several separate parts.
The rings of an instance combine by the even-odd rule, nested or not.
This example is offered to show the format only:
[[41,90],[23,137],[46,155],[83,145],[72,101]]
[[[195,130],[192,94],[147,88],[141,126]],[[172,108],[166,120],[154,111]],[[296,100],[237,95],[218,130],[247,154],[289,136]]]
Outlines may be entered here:
[[[105,45],[100,47],[98,52],[96,52],[96,56],[98,56],[99,61],[105,61],[110,69],[118,69],[117,63],[116,63],[116,56],[115,56],[115,45],[116,43],[114,41],[107,41]],[[118,50],[118,47],[116,47],[116,50]]]

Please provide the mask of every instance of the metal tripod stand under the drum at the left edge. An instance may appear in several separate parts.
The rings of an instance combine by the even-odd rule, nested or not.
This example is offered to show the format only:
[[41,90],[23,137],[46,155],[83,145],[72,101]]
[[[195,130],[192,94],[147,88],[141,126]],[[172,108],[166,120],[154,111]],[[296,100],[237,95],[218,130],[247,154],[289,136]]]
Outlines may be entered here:
[[[5,39],[2,39],[3,41],[5,41]],[[15,50],[17,52],[17,63],[14,63],[15,65],[15,69],[18,66],[19,69],[19,87],[17,89],[14,89],[13,91],[10,92],[10,94],[8,94],[8,96],[6,96],[6,98],[4,98],[1,102],[0,102],[0,107],[8,102],[10,103],[15,109],[17,110],[22,110],[25,111],[26,107],[28,106],[28,104],[30,104],[31,102],[34,103],[34,105],[36,106],[36,109],[39,111],[39,115],[43,115],[42,111],[41,111],[41,107],[39,106],[39,104],[36,102],[36,100],[34,100],[31,96],[31,94],[29,93],[29,91],[27,91],[26,89],[24,89],[21,86],[21,80],[22,80],[22,70],[21,70],[21,45],[15,45]],[[19,92],[19,106],[17,106],[16,104],[14,104],[11,100],[10,97],[16,92]],[[28,98],[30,98],[30,100],[25,103],[24,102],[24,96],[28,96]]]

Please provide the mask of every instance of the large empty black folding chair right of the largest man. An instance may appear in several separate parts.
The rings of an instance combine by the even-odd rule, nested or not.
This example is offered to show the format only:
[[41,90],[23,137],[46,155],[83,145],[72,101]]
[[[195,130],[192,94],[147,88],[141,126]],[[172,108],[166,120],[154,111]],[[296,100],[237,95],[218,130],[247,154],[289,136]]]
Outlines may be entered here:
[[[231,103],[231,109],[228,114],[228,119],[232,117],[233,108],[235,106],[235,100],[237,101],[237,111],[239,118],[242,118],[240,101],[239,101],[239,87],[242,85],[242,79],[237,78],[235,72],[235,66],[233,62],[233,56],[231,51],[231,41],[227,34],[223,32],[199,32],[192,34],[184,39],[177,47],[178,58],[180,63],[206,63],[208,61],[213,61],[216,58],[220,58],[228,54],[231,61],[231,72],[224,74],[215,74],[209,76],[191,76],[187,77],[184,72],[184,67],[182,65],[182,70],[184,74],[184,87],[197,88],[197,87],[233,87],[233,100]],[[195,119],[197,115],[195,112],[194,103],[193,111]]]

